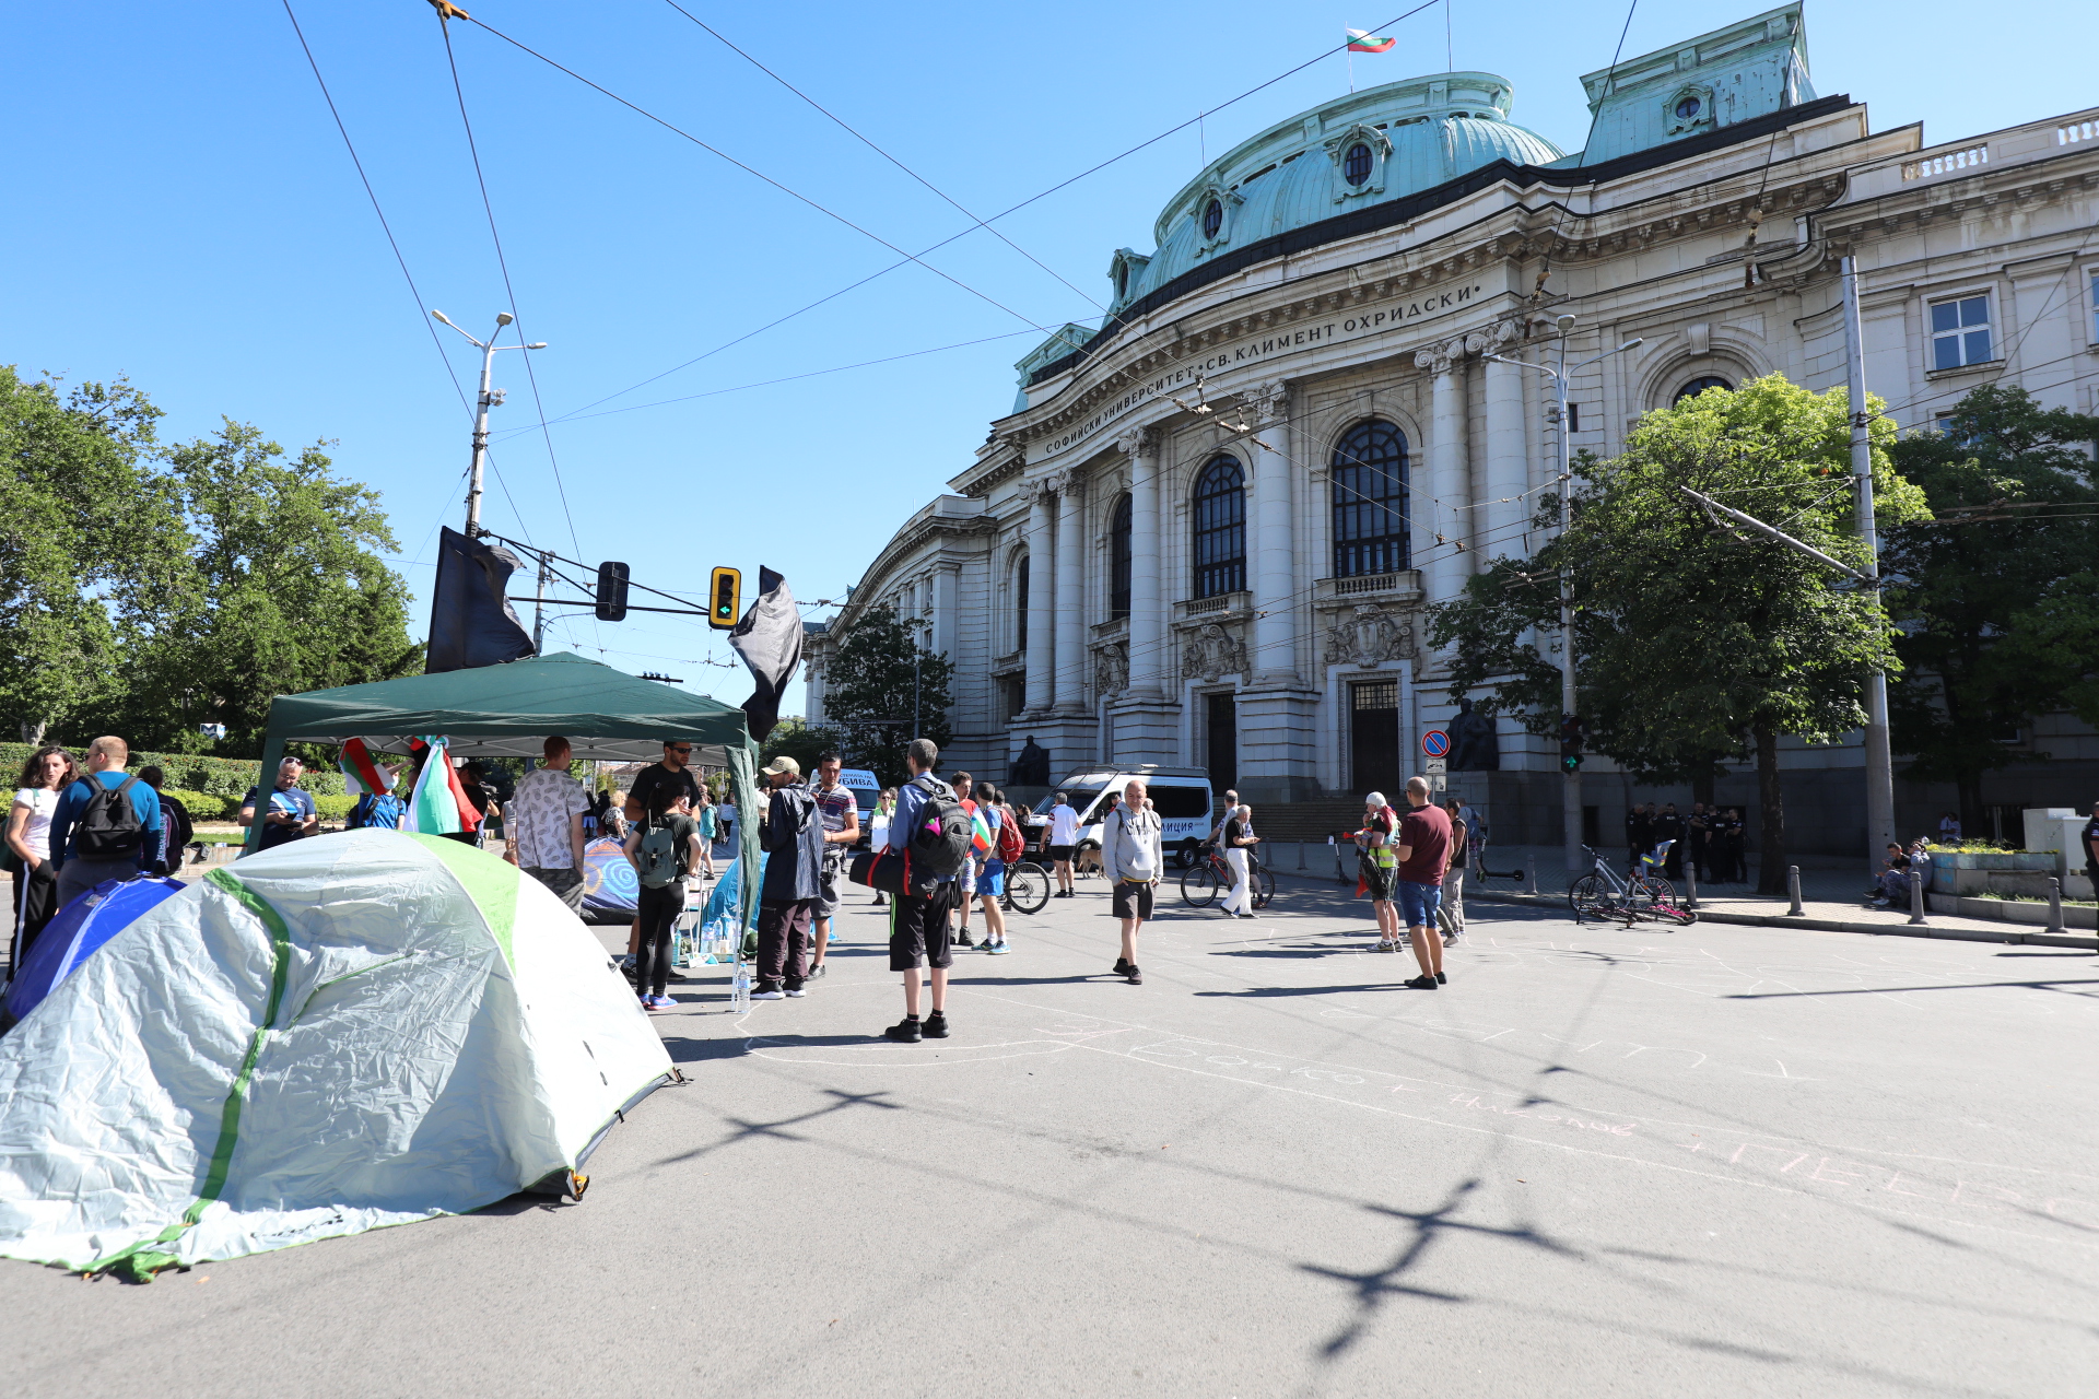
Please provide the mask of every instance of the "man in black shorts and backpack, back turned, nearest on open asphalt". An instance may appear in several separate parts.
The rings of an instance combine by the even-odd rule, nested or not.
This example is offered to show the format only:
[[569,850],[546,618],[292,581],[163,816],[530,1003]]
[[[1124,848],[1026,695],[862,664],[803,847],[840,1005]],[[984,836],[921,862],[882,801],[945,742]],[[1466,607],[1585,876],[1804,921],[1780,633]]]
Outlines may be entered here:
[[[970,858],[970,814],[955,789],[932,774],[940,749],[913,738],[905,749],[911,780],[896,793],[890,849],[905,862],[903,891],[890,900],[890,971],[905,973],[905,1017],[884,1030],[900,1045],[947,1038],[947,969],[955,965],[947,914],[955,873]],[[932,975],[932,1015],[919,1019],[919,967]]]

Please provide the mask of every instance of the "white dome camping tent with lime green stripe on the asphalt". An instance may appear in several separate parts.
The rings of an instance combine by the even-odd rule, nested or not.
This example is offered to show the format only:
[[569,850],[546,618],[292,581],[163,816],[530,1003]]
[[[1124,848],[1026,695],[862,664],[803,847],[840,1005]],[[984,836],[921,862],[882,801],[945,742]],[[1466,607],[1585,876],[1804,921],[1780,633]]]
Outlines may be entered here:
[[670,1055],[495,856],[292,841],[143,912],[0,1038],[0,1256],[233,1258],[577,1175]]

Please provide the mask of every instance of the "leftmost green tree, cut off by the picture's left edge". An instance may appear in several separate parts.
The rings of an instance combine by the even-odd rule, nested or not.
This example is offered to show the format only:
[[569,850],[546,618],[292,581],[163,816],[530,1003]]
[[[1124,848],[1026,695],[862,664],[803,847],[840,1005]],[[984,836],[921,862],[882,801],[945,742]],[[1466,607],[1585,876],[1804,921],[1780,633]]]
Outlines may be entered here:
[[164,547],[149,487],[160,417],[113,380],[61,392],[0,365],[0,711],[42,742],[107,694],[118,671],[109,596]]

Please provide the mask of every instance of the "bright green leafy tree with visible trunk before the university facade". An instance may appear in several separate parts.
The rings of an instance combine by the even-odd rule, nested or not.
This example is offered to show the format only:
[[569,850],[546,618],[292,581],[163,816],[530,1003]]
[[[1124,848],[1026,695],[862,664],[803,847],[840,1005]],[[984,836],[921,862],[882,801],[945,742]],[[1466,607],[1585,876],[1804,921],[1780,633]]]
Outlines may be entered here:
[[[1887,464],[1893,426],[1874,428],[1883,520],[1923,510]],[[1843,390],[1814,394],[1767,375],[1648,413],[1612,461],[1574,468],[1587,489],[1566,537],[1499,562],[1436,608],[1429,636],[1455,646],[1453,694],[1494,684],[1530,732],[1560,728],[1557,573],[1574,581],[1578,713],[1589,745],[1644,780],[1757,766],[1759,889],[1784,889],[1786,816],[1778,738],[1826,740],[1864,724],[1862,686],[1893,669],[1874,600],[1824,564],[1763,535],[1717,526],[1688,485],[1860,562],[1851,533]],[[1557,518],[1557,501],[1541,524]],[[1549,638],[1545,650],[1534,638]]]

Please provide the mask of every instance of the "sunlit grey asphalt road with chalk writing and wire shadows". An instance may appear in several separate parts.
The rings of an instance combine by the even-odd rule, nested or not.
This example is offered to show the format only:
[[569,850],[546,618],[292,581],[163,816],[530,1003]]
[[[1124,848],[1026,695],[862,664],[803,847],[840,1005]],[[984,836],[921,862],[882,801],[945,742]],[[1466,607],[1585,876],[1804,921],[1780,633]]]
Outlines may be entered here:
[[80,1395],[2070,1395],[2099,1386],[2099,959],[1098,881],[900,1015],[879,910],[804,1000],[657,1017],[688,1086],[508,1202],[153,1286],[0,1265]]

